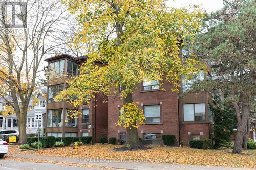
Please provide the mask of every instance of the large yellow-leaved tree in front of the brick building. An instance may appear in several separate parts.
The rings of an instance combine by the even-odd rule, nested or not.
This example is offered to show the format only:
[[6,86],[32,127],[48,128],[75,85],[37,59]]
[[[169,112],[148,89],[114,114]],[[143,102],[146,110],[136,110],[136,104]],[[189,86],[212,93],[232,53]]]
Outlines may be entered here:
[[89,103],[95,93],[115,95],[121,87],[124,112],[117,124],[125,123],[127,143],[138,147],[137,128],[145,117],[133,100],[133,90],[145,79],[165,78],[177,91],[180,75],[196,72],[197,60],[181,59],[179,53],[184,37],[198,33],[202,12],[197,7],[166,8],[165,1],[154,0],[71,0],[66,4],[81,24],[77,41],[94,48],[88,50],[80,75],[58,99],[79,106],[84,100]]

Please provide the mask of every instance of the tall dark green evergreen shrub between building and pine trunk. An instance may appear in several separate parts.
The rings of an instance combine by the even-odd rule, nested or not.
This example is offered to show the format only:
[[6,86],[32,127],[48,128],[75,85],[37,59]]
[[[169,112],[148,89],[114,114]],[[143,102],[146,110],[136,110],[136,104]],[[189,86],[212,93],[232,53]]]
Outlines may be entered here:
[[236,125],[236,115],[234,115],[232,106],[216,100],[210,109],[215,114],[215,148],[219,148],[224,143],[231,141],[233,127]]

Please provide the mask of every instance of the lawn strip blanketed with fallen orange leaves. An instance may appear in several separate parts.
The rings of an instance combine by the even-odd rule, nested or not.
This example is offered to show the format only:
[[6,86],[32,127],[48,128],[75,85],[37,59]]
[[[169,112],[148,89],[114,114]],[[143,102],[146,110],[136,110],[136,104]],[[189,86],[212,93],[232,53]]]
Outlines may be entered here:
[[[145,161],[155,163],[191,164],[225,167],[256,168],[256,150],[243,150],[243,154],[232,154],[231,149],[203,150],[181,147],[154,146],[150,150],[140,151],[111,151],[117,145],[81,145],[79,154],[75,155],[73,147],[58,147],[42,149],[39,152],[25,151],[45,156],[64,156],[96,159],[119,159]],[[15,152],[16,147],[10,147]]]

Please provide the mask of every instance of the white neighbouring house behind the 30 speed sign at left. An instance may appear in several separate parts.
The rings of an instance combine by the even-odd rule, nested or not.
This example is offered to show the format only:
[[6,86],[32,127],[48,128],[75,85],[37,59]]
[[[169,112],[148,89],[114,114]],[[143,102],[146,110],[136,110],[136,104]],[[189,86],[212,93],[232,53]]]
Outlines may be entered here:
[[[35,112],[40,111],[43,114],[43,121],[39,122],[40,133],[44,131],[44,115],[46,113],[46,100],[45,96],[47,92],[46,86],[40,86],[33,94],[34,98],[37,99],[38,103],[36,106],[33,106],[32,99],[29,102],[28,113],[27,113],[27,134],[36,134],[37,133],[37,121],[34,120]],[[10,96],[7,96],[9,102],[12,101]],[[3,98],[0,98],[0,130],[16,130],[18,131],[18,119],[16,114],[9,114],[7,117],[1,114],[1,111],[6,110],[6,101]]]

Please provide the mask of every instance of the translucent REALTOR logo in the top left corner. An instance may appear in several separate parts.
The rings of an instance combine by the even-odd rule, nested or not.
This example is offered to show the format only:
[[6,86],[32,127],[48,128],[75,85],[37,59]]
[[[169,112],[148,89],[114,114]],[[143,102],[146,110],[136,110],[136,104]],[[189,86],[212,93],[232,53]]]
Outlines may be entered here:
[[0,2],[2,29],[24,28],[27,17],[27,1],[2,0]]

